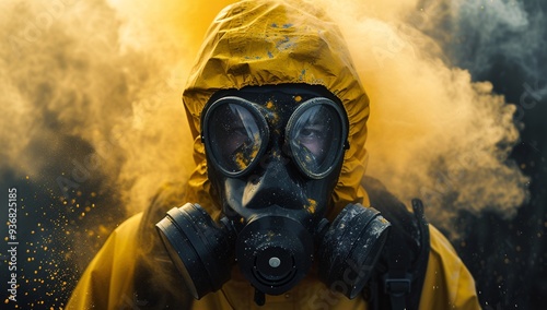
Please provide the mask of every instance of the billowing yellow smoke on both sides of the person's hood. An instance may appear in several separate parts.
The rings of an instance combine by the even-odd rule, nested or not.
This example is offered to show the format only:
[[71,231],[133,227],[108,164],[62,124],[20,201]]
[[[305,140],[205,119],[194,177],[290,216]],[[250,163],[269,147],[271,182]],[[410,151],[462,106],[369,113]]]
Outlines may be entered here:
[[[4,165],[39,170],[45,159],[25,147],[62,132],[92,145],[129,214],[163,182],[184,181],[194,163],[182,90],[207,27],[230,2],[4,1],[0,115],[18,124],[1,124]],[[418,1],[364,2],[316,5],[340,24],[371,97],[368,172],[405,201],[424,199],[439,222],[457,210],[514,214],[526,181],[505,163],[519,138],[514,108],[450,67],[408,22],[434,23]]]

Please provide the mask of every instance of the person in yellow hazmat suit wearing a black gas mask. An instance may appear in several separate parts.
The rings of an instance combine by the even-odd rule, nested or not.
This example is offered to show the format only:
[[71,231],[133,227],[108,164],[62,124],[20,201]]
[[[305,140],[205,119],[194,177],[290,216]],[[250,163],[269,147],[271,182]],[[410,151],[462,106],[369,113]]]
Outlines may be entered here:
[[479,309],[421,202],[364,175],[369,98],[325,12],[229,5],[183,102],[195,171],[113,231],[67,309]]

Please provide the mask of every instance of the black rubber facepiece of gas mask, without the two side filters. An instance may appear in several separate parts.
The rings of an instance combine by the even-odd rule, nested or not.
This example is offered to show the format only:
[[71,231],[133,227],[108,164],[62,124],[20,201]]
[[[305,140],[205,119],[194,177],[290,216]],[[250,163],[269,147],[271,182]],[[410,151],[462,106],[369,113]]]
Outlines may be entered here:
[[312,265],[341,167],[347,120],[338,104],[319,94],[237,95],[214,102],[205,115],[209,179],[237,231],[241,271],[259,291],[279,295]]

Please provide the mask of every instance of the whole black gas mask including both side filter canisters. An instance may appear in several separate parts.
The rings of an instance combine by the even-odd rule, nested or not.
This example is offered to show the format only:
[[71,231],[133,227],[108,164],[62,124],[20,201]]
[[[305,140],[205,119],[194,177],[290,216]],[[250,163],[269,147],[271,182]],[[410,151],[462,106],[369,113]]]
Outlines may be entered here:
[[314,262],[348,298],[364,287],[389,223],[348,204],[329,223],[333,190],[348,144],[348,118],[322,86],[278,85],[218,92],[203,108],[201,139],[220,218],[197,203],[167,212],[158,231],[193,296],[230,279],[236,262],[255,301],[295,286]]

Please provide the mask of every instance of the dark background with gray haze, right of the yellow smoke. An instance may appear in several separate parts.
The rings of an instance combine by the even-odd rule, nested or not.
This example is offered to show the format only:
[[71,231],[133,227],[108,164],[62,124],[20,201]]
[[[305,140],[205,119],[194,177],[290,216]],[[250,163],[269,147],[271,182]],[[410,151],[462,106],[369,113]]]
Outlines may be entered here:
[[[531,178],[531,198],[511,219],[488,211],[462,213],[456,228],[465,237],[453,243],[476,278],[485,309],[539,309],[547,305],[547,1],[501,1],[524,10],[499,20],[501,13],[487,12],[487,1],[474,2],[475,12],[444,20],[454,34],[450,40],[430,34],[474,81],[490,81],[516,105],[521,141],[510,160]],[[515,22],[522,17],[527,23]]]

